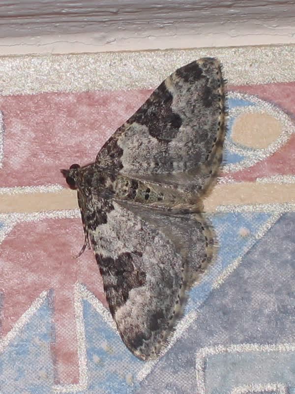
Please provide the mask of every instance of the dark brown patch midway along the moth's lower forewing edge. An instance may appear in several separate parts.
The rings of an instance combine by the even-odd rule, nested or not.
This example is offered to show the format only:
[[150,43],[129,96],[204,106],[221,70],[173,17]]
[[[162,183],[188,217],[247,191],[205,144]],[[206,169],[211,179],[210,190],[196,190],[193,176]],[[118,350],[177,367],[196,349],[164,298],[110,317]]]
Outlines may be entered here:
[[[136,253],[141,257],[141,253]],[[104,291],[112,316],[123,305],[130,290],[141,287],[146,283],[146,273],[137,269],[133,264],[132,254],[121,253],[117,259],[95,255],[103,277]]]

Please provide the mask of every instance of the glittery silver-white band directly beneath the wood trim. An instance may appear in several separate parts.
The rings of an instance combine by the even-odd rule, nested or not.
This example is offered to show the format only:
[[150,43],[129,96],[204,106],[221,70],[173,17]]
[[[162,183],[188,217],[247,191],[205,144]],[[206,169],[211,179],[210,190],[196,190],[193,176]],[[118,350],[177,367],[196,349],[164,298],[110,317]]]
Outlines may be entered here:
[[153,89],[176,68],[206,56],[220,59],[230,85],[290,82],[294,78],[295,45],[28,55],[0,58],[0,92]]

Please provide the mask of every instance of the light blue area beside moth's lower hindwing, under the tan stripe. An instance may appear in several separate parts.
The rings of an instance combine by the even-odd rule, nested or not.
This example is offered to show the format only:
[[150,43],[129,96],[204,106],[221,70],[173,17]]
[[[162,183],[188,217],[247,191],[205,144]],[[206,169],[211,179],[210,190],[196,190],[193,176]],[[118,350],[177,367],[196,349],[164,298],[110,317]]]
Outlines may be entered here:
[[[233,263],[255,244],[256,234],[260,227],[270,218],[269,213],[219,213],[210,217],[218,240],[218,263],[204,276],[200,284],[191,292],[187,311],[196,309],[205,301],[212,290],[212,284],[223,270]],[[240,229],[247,229],[249,235],[241,236]]]

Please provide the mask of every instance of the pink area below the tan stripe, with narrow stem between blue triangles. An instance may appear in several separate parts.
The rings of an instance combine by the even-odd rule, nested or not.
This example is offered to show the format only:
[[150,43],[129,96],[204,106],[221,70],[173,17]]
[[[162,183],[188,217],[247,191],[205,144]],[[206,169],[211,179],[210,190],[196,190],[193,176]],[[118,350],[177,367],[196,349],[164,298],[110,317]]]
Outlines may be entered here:
[[56,341],[56,382],[79,381],[74,285],[85,284],[106,304],[92,251],[79,259],[84,242],[80,219],[52,219],[18,224],[0,252],[0,293],[4,296],[1,331],[7,334],[41,292],[52,289]]

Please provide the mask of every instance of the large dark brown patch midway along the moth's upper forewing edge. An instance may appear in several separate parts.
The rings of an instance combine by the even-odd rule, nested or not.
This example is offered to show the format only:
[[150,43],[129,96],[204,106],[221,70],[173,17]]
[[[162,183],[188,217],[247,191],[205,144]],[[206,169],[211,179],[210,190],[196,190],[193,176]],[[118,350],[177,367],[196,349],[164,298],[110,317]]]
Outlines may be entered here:
[[152,137],[161,142],[170,142],[177,136],[182,124],[180,116],[172,111],[172,101],[173,96],[163,82],[129,122],[145,125]]

